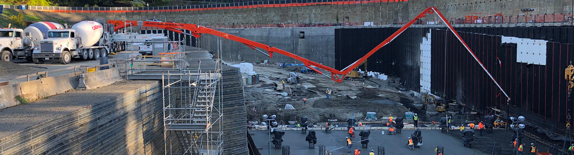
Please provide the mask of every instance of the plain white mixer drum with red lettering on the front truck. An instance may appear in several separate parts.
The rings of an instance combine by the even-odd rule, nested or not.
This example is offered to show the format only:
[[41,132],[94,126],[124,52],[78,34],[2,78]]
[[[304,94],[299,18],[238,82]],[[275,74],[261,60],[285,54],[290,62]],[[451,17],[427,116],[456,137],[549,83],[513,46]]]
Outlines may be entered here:
[[82,38],[82,45],[89,47],[100,41],[104,28],[99,22],[82,21],[72,26],[77,31],[77,35]]

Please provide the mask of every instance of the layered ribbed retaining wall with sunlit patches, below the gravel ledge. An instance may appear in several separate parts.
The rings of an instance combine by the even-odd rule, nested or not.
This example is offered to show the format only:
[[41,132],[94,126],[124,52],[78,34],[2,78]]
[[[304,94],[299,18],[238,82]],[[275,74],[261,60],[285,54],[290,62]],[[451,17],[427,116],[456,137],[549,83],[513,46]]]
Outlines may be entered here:
[[32,126],[0,140],[0,154],[163,154],[161,92],[154,82]]

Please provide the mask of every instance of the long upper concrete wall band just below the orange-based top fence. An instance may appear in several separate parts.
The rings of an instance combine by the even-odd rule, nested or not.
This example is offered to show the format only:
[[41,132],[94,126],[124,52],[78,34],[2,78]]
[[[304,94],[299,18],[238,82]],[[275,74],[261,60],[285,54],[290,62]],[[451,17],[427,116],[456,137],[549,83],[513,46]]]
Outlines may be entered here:
[[[474,1],[474,0],[420,0],[381,3],[355,3],[350,5],[310,5],[293,7],[254,7],[246,9],[221,9],[175,12],[131,12],[131,13],[72,13],[106,17],[115,20],[145,21],[157,18],[176,23],[199,25],[254,25],[275,23],[343,23],[343,22],[385,22],[410,20],[427,7],[438,7],[445,18],[464,18],[466,13],[502,13],[524,15],[520,9],[535,8],[535,14],[572,13],[571,0],[557,1]],[[429,15],[422,19],[438,19]]]

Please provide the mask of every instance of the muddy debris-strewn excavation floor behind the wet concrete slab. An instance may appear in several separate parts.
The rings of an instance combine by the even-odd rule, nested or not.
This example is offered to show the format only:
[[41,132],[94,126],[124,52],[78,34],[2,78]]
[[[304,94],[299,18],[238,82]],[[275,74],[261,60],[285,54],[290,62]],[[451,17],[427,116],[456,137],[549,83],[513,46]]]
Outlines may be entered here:
[[[234,63],[236,64],[236,63]],[[279,92],[269,92],[273,90],[272,82],[280,82],[289,75],[288,70],[296,67],[280,68],[276,65],[256,65],[254,71],[261,74],[259,80],[262,84],[253,86],[246,85],[244,92],[247,102],[247,113],[276,114],[284,122],[289,121],[289,113],[296,113],[298,120],[307,116],[309,122],[327,122],[329,114],[335,114],[339,122],[346,122],[348,118],[354,117],[359,121],[364,120],[367,112],[377,113],[378,118],[403,117],[405,112],[409,112],[402,102],[412,104],[413,97],[409,92],[401,92],[398,88],[398,80],[390,78],[387,81],[371,78],[369,81],[343,81],[341,83],[332,81],[330,78],[320,74],[301,73],[302,85],[311,84],[316,88],[309,88],[304,96],[284,97],[277,93],[287,92],[285,88]],[[300,73],[300,72],[296,72]],[[329,74],[329,73],[325,73]],[[245,74],[244,77],[247,77]],[[380,87],[379,87],[380,86]],[[290,85],[286,84],[286,87]],[[368,88],[367,88],[368,87]],[[331,89],[333,92],[327,100],[325,90]],[[347,97],[357,97],[355,99]],[[304,104],[302,98],[307,98]],[[295,109],[284,109],[286,104],[293,105]],[[411,105],[412,106],[412,105]],[[249,116],[248,116],[249,118]]]

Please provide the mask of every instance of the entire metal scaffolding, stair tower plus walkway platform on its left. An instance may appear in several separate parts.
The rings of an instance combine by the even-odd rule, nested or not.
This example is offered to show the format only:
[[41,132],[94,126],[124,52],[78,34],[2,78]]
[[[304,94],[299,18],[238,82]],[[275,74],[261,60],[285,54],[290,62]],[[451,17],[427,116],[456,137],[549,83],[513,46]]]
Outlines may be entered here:
[[[154,55],[159,59],[125,60],[126,79],[161,80],[166,155],[222,154],[221,59],[183,48],[166,51],[170,55]],[[198,55],[189,59],[193,54]]]

